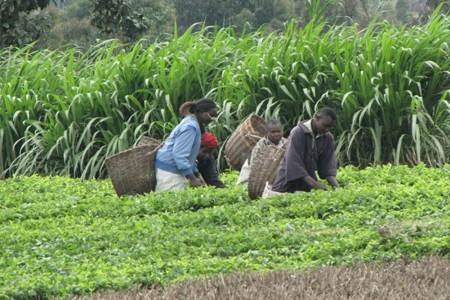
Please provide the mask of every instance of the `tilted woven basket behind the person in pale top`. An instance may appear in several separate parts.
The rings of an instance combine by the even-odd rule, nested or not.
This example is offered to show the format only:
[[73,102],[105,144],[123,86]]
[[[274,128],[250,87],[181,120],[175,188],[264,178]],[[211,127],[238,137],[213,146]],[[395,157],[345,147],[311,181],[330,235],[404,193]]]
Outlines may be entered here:
[[266,121],[252,113],[230,136],[225,145],[225,157],[230,166],[241,170],[256,143],[266,135]]

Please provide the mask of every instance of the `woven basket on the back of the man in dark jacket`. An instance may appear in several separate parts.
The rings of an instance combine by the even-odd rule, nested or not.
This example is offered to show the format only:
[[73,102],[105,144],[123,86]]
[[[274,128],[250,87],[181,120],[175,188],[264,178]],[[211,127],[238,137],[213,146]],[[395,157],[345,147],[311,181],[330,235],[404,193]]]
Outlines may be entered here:
[[283,148],[268,145],[252,157],[250,176],[248,179],[248,196],[255,200],[262,196],[266,181],[272,184],[277,175],[278,167],[284,156]]

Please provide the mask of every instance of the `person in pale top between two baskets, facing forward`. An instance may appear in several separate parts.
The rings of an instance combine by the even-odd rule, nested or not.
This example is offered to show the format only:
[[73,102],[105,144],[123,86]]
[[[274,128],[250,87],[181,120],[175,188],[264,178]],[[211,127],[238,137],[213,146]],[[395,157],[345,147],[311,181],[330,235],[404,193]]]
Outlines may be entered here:
[[254,158],[262,148],[268,145],[274,145],[284,149],[286,148],[287,139],[283,137],[283,125],[281,124],[281,122],[274,119],[269,120],[267,121],[266,128],[266,136],[260,139],[258,143],[256,143],[255,147],[253,147],[252,152],[250,153],[250,156],[242,165],[242,169],[239,173],[239,178],[236,182],[236,185],[248,183],[252,158]]

